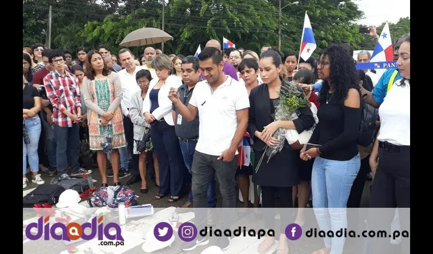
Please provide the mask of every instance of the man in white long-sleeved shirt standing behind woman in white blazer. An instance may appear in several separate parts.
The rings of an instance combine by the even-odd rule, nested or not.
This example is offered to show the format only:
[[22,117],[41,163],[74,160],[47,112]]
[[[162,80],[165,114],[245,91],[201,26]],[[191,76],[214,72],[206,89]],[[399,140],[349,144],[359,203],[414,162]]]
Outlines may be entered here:
[[134,63],[134,56],[129,49],[123,48],[119,51],[119,60],[125,69],[118,72],[120,82],[122,83],[122,101],[120,107],[123,113],[123,126],[125,129],[125,138],[128,143],[128,152],[132,157],[132,177],[126,184],[134,184],[141,181],[139,174],[139,155],[133,154],[133,140],[134,140],[134,125],[129,118],[129,107],[131,104],[132,94],[140,87],[137,85],[136,74],[138,71],[144,69],[143,66],[136,66]]

